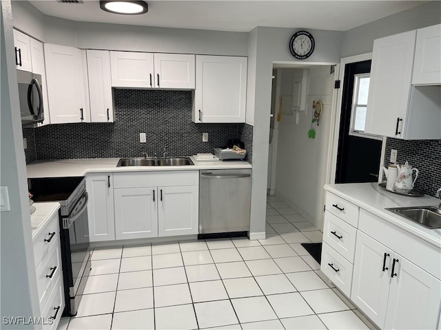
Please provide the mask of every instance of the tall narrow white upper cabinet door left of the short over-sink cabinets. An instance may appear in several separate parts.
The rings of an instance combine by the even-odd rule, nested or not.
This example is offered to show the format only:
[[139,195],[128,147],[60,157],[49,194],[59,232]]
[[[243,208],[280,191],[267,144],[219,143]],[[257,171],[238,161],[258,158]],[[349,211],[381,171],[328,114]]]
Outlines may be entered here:
[[110,54],[107,50],[87,50],[90,121],[113,122]]

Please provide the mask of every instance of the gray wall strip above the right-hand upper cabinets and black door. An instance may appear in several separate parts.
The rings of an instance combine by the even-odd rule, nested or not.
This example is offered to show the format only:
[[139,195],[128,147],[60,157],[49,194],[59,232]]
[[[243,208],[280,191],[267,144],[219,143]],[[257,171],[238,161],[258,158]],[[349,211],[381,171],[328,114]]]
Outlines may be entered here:
[[441,1],[431,1],[404,12],[398,12],[398,14],[346,31],[343,35],[341,57],[372,52],[373,41],[383,36],[439,23],[441,23]]

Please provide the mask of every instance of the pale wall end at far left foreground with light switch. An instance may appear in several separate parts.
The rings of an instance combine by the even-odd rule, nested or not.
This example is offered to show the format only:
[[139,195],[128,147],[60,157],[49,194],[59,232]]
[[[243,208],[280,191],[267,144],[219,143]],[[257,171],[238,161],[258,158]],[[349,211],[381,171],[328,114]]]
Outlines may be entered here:
[[8,316],[39,315],[9,0],[1,1],[0,30],[0,184],[8,187],[10,201],[10,211],[0,213],[1,329],[33,329],[32,325],[3,322]]

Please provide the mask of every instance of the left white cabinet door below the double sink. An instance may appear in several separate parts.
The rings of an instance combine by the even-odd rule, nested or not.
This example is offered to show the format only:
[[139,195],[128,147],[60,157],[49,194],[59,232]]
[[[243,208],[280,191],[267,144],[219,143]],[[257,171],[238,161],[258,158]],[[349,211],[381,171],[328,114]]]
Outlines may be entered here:
[[156,187],[115,189],[114,197],[116,239],[158,236]]

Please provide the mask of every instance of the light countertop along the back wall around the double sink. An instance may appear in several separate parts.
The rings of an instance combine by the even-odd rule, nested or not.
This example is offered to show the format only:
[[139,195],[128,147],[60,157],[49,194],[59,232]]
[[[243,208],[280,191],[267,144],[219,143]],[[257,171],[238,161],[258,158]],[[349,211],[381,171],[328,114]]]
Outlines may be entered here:
[[119,158],[53,159],[37,160],[26,166],[28,177],[82,177],[87,173],[142,172],[167,170],[217,170],[228,168],[252,168],[248,162],[213,161],[196,162],[187,166],[122,166],[116,167]]

